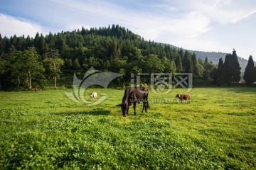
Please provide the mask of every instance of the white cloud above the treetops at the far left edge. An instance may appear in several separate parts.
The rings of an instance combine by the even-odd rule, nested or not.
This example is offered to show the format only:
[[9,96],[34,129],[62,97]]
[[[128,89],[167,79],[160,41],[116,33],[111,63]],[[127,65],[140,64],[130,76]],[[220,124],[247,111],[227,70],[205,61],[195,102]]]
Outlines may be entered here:
[[36,23],[0,13],[0,33],[2,37],[10,37],[13,35],[30,35],[33,37],[37,32],[43,33],[43,29]]

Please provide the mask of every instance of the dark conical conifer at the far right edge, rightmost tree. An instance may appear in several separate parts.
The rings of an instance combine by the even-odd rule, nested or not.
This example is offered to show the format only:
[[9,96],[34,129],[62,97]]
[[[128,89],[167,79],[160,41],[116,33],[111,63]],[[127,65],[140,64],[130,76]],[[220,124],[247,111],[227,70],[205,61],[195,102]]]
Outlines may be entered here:
[[255,64],[252,59],[252,55],[250,55],[247,66],[245,67],[245,74],[243,78],[245,79],[245,84],[248,85],[256,81]]

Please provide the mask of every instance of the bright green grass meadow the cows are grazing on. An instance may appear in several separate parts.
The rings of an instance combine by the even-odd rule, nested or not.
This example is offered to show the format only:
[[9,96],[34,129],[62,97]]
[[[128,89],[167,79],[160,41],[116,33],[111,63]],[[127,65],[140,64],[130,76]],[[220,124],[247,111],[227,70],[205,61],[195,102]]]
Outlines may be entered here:
[[255,88],[193,88],[191,104],[149,91],[123,117],[124,89],[98,106],[58,89],[0,92],[0,169],[256,169]]

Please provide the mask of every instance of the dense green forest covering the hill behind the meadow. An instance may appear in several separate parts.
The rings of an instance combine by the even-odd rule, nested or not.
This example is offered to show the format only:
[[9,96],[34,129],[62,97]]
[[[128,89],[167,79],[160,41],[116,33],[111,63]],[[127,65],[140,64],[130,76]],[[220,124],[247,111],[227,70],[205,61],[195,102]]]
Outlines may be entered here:
[[90,67],[124,74],[118,84],[129,83],[131,73],[159,72],[193,73],[198,80],[194,82],[201,84],[218,71],[207,57],[203,61],[187,50],[144,40],[119,25],[45,36],[37,33],[34,38],[0,34],[0,54],[1,89],[71,85],[74,72],[82,77]]

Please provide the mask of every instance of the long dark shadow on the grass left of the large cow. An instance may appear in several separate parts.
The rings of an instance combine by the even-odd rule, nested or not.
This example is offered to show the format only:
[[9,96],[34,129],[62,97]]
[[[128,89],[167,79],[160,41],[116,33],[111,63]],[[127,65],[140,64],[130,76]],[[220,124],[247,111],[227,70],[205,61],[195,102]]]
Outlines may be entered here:
[[52,115],[109,115],[110,111],[95,108],[92,111],[66,111],[63,113],[52,113]]

